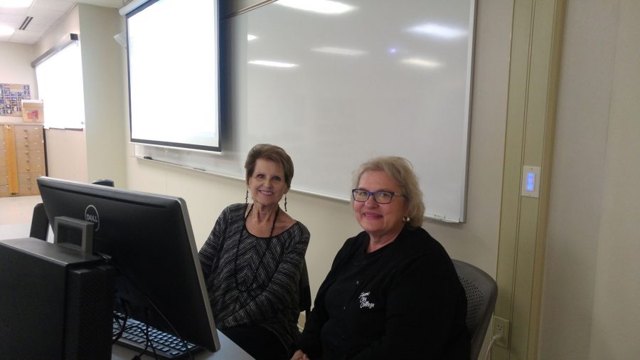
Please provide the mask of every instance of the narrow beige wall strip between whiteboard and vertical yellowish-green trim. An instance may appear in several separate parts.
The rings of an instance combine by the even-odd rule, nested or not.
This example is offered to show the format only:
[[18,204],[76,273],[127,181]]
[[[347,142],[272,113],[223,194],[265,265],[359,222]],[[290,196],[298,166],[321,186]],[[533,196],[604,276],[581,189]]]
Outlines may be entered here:
[[452,258],[496,272],[506,125],[511,1],[478,1],[466,223],[425,221]]

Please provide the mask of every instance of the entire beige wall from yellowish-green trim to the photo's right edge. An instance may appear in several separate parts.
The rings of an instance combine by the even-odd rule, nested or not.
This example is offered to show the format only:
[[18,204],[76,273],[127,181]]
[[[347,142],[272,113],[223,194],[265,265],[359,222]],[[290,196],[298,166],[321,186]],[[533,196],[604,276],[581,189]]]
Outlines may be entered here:
[[539,359],[639,359],[640,4],[567,1]]

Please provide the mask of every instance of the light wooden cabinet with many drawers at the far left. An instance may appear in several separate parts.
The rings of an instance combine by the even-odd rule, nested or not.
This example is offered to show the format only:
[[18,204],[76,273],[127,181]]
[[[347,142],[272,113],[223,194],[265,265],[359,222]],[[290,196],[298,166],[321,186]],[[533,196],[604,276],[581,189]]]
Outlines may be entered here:
[[38,176],[47,174],[42,125],[1,124],[0,197],[39,195]]

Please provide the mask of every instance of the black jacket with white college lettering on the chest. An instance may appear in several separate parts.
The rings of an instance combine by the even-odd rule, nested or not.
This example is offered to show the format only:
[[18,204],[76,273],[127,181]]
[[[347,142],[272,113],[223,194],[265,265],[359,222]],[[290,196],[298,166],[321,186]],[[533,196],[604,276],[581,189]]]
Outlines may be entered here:
[[468,360],[466,295],[442,245],[422,228],[370,254],[368,241],[362,232],[336,255],[299,349],[313,360]]

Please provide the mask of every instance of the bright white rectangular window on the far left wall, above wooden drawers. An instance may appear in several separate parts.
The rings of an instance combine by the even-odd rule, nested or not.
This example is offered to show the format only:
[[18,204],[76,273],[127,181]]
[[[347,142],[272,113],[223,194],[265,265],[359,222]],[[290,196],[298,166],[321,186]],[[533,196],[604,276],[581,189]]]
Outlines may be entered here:
[[44,102],[45,127],[84,129],[80,41],[73,41],[36,65],[36,80]]

